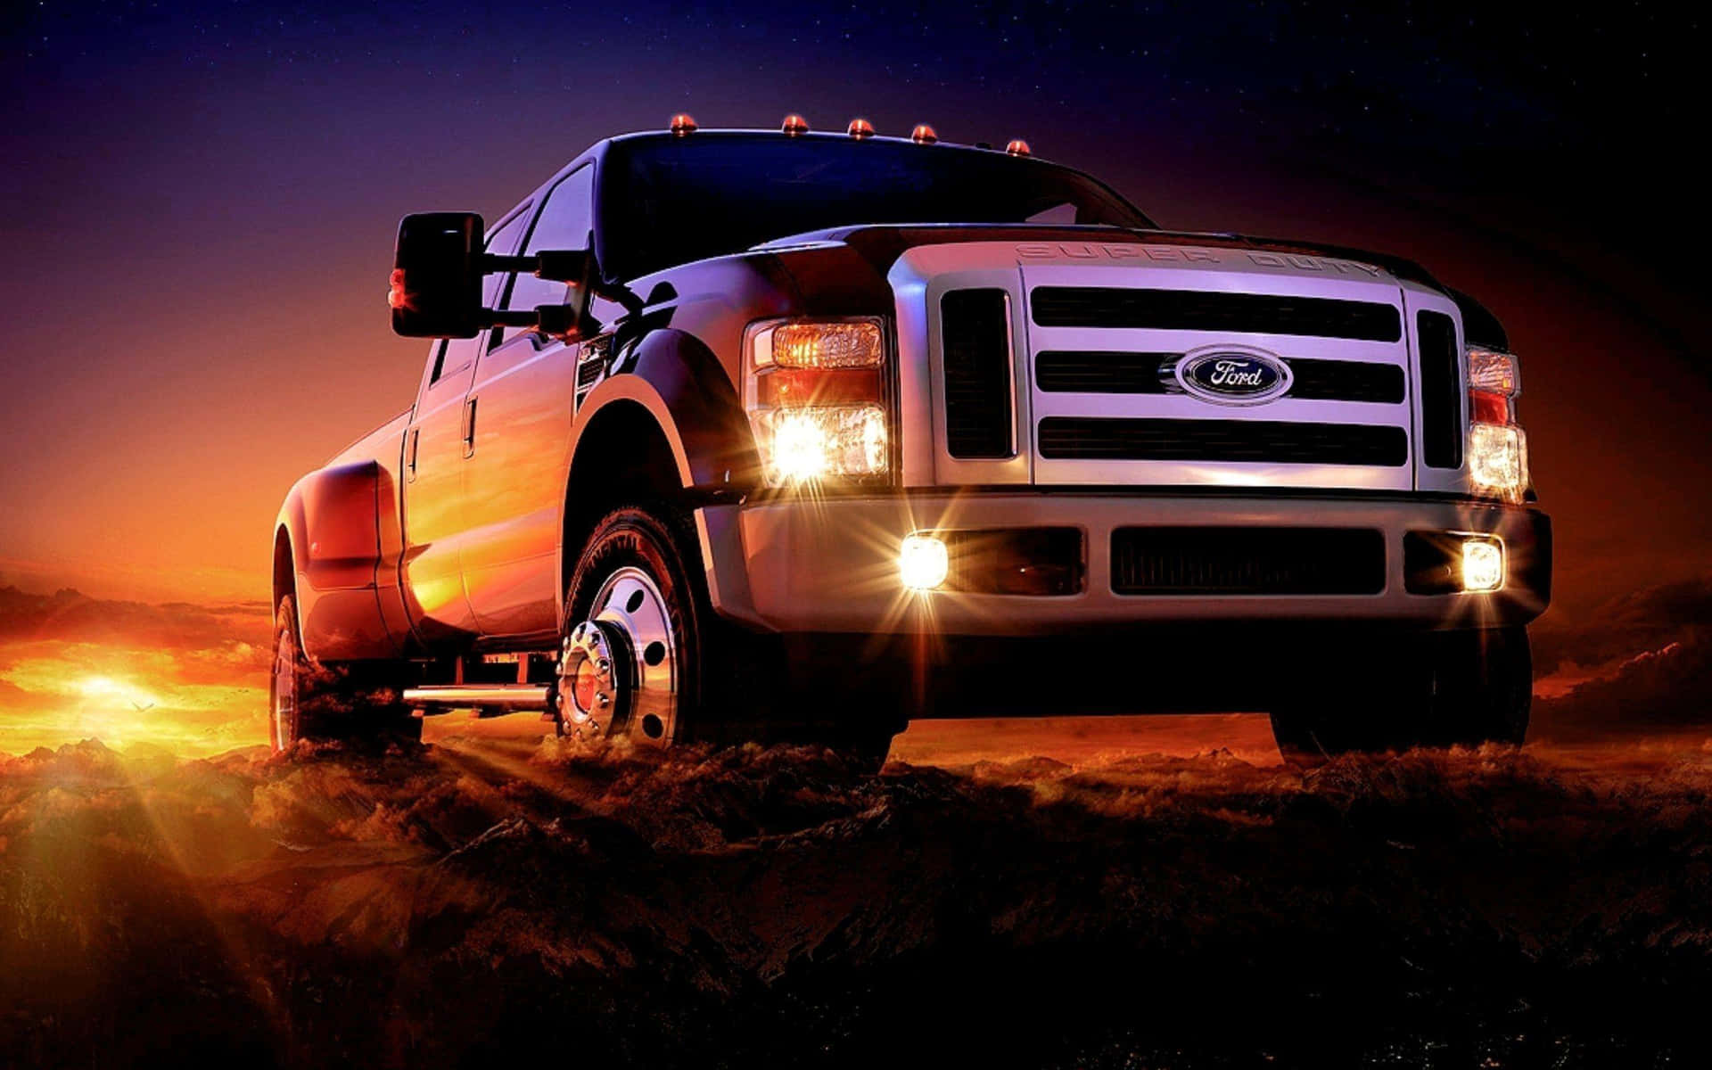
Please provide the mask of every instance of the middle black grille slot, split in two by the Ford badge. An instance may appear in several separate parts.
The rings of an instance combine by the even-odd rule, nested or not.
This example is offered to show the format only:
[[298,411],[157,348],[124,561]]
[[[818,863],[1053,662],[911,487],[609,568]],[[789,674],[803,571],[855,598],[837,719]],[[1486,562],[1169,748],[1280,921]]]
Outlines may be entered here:
[[[1178,394],[1171,368],[1181,353],[1043,351],[1034,383],[1048,394]],[[1294,382],[1284,394],[1305,401],[1400,404],[1407,377],[1397,365],[1289,358]]]

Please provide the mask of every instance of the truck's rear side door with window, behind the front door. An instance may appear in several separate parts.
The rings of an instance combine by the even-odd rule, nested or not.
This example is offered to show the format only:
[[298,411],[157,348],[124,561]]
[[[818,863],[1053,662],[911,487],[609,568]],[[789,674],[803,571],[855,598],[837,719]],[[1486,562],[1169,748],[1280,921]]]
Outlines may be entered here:
[[[488,250],[517,248],[529,205],[517,209],[488,238]],[[490,277],[483,303],[493,303],[502,276]],[[443,339],[430,353],[404,433],[404,597],[411,623],[425,644],[445,644],[476,633],[464,594],[461,544],[467,531],[464,457],[469,452],[469,411],[464,402],[476,375],[476,356],[490,332]]]

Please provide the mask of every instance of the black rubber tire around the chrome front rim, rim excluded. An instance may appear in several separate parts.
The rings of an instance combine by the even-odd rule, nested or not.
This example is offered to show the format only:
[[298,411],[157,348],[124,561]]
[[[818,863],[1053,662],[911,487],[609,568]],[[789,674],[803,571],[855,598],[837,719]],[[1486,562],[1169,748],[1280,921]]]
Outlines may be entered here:
[[[885,762],[892,731],[868,729],[834,716],[841,702],[822,695],[793,692],[784,681],[782,644],[776,637],[755,635],[721,618],[707,594],[707,577],[700,568],[700,550],[695,529],[683,512],[668,505],[623,505],[611,510],[594,526],[584,541],[577,565],[572,568],[565,592],[567,642],[574,642],[579,625],[592,623],[603,613],[620,628],[632,649],[618,656],[628,661],[618,666],[620,675],[637,687],[635,695],[647,688],[642,676],[645,647],[642,625],[632,625],[623,606],[608,613],[604,599],[618,592],[615,577],[630,570],[645,574],[651,589],[642,587],[637,609],[651,609],[659,599],[668,618],[663,661],[669,659],[676,693],[671,717],[651,731],[644,709],[657,709],[649,698],[615,700],[615,714],[601,719],[586,712],[574,698],[570,681],[560,695],[560,731],[575,736],[604,738],[627,734],[644,746],[671,746],[673,743],[743,743],[791,741],[817,743],[834,748],[853,767],[878,770]],[[620,580],[623,582],[623,580]],[[632,591],[635,597],[637,591]],[[596,604],[601,601],[601,604]],[[623,645],[623,644],[611,644]],[[657,663],[656,663],[657,664]],[[820,690],[839,690],[837,683],[820,683]],[[801,710],[811,709],[813,717]],[[659,716],[659,714],[656,714]],[[589,724],[596,726],[591,729]]]

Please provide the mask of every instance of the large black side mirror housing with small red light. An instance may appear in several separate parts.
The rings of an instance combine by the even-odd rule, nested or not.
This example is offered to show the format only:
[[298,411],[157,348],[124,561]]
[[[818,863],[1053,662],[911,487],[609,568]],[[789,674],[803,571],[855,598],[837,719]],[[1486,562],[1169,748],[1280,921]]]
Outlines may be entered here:
[[418,212],[399,223],[387,305],[404,337],[476,337],[483,322],[484,228],[476,212]]

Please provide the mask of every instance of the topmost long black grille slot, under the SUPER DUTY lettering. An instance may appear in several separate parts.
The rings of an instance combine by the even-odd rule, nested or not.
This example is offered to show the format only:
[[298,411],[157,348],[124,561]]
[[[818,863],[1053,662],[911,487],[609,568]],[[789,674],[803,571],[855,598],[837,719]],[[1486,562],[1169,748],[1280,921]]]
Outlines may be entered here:
[[1303,334],[1371,342],[1402,339],[1397,308],[1371,301],[1096,286],[1037,286],[1031,296],[1034,322],[1041,327]]

